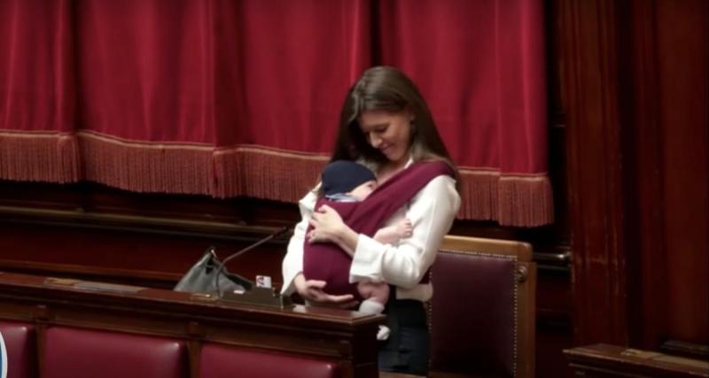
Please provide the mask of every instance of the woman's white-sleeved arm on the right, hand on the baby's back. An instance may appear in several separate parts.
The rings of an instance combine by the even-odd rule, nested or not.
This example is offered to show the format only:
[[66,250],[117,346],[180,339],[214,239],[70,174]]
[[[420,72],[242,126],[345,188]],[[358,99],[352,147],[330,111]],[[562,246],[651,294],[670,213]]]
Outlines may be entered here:
[[406,217],[411,220],[412,235],[402,239],[398,246],[356,234],[337,212],[326,206],[312,214],[310,222],[315,232],[308,235],[309,240],[339,243],[344,250],[354,251],[352,282],[373,280],[413,287],[432,265],[440,242],[456,217],[460,206],[456,181],[449,176],[436,177],[409,204]]

